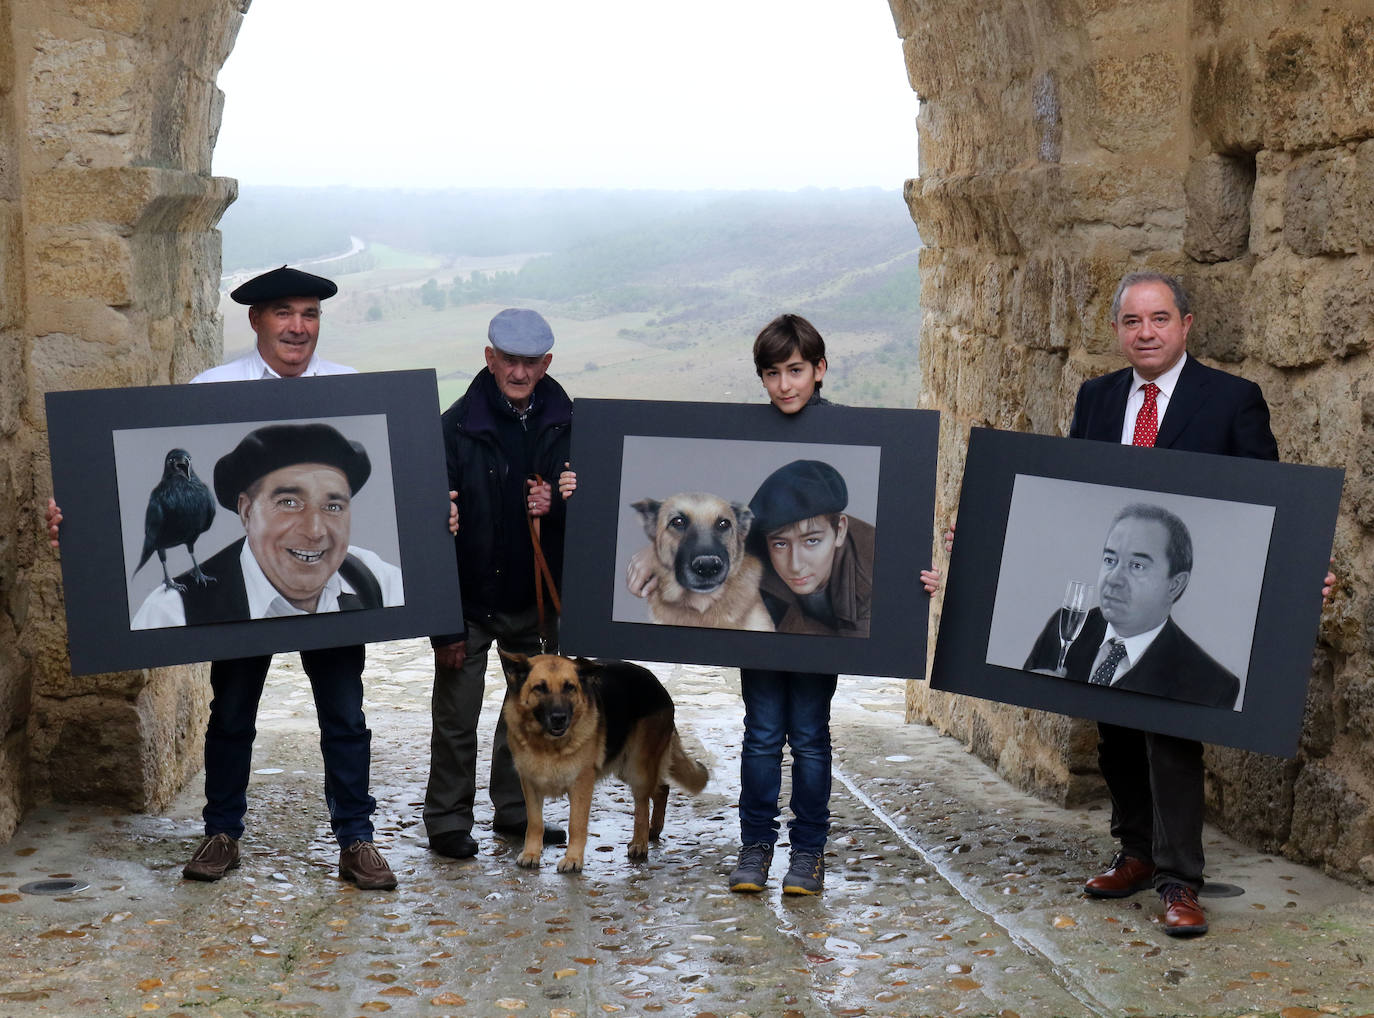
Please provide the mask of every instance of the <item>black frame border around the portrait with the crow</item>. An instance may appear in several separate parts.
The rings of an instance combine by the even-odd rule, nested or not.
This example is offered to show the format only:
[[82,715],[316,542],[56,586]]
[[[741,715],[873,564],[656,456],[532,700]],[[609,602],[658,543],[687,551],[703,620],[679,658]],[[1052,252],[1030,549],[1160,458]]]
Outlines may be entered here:
[[[62,581],[73,675],[462,632],[458,566],[445,515],[448,475],[434,371],[54,392],[47,394],[47,414],[54,496],[63,511]],[[385,463],[389,471],[374,467],[368,481],[371,490],[364,485],[357,500],[368,495],[389,506],[376,515],[379,525],[392,515],[389,540],[394,541],[390,548],[398,559],[393,565],[404,577],[404,604],[159,629],[131,628],[139,604],[131,603],[135,595],[131,595],[129,576],[137,558],[129,561],[129,532],[131,526],[142,532],[143,523],[142,517],[128,519],[131,511],[136,511],[131,510],[129,492],[124,493],[121,507],[117,459],[126,464],[129,452],[125,449],[117,457],[117,434],[132,433],[137,438],[143,429],[155,436],[174,436],[177,429],[188,433],[209,429],[236,436],[232,440],[236,442],[264,423],[337,423],[353,418],[372,422],[368,434],[385,433],[385,448],[374,446],[371,455],[374,464]],[[383,418],[378,430],[375,422]],[[148,442],[144,452],[154,474],[161,473],[164,444]],[[229,448],[232,444],[225,444],[218,455]],[[212,486],[213,467],[213,455],[192,464]],[[385,488],[387,479],[390,490]],[[146,482],[140,485],[146,488]],[[144,506],[147,496],[144,489],[140,496]],[[242,537],[238,518],[223,507],[216,528],[225,517],[238,528],[236,537]],[[206,537],[220,532],[213,529]],[[196,558],[203,561],[218,547],[198,541]],[[179,551],[185,556],[184,548]],[[188,558],[176,561],[179,565],[173,567],[173,552],[169,552],[173,574],[190,566]],[[154,555],[139,574],[144,580],[155,577],[161,584],[158,558]]]

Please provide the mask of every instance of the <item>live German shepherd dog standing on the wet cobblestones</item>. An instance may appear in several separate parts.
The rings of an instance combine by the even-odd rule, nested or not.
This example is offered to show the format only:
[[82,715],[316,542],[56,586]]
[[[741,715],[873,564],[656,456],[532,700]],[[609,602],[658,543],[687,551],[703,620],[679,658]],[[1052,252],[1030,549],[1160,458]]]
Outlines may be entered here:
[[683,750],[668,690],[647,668],[627,661],[499,653],[507,686],[502,708],[506,736],[528,817],[525,850],[515,861],[526,868],[539,866],[544,800],[567,795],[567,855],[558,872],[580,871],[592,786],[613,773],[635,795],[629,857],[646,859],[649,842],[658,841],[664,830],[668,780],[695,795],[710,778],[705,764]]

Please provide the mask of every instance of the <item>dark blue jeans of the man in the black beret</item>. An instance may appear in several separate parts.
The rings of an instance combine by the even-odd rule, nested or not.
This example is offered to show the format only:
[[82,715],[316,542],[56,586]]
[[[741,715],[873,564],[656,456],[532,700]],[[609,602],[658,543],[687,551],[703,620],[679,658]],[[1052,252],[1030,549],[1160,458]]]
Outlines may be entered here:
[[[272,657],[210,665],[210,725],[205,732],[206,835],[243,837],[257,708]],[[376,800],[368,791],[372,732],[363,716],[363,647],[301,651],[311,677],[324,757],[324,802],[339,846],[372,841]]]

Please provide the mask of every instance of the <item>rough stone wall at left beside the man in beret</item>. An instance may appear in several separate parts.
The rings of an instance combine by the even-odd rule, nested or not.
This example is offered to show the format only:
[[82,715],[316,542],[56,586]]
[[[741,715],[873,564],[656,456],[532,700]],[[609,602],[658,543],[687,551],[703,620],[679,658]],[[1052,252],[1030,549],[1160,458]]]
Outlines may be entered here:
[[195,669],[73,677],[43,394],[217,363],[214,85],[247,0],[0,0],[0,841],[47,797],[157,808],[199,765]]

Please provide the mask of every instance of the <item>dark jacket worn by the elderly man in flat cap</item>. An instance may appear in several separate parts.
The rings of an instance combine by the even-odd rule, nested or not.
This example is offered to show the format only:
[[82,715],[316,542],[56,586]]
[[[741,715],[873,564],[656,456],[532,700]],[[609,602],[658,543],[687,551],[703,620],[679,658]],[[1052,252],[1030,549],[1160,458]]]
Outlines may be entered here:
[[[532,474],[554,486],[550,512],[540,518],[540,545],[554,582],[561,585],[567,514],[558,497],[558,474],[569,460],[572,422],[573,401],[548,375],[534,386],[522,422],[486,368],[444,411],[448,486],[458,492],[453,544],[466,618],[485,620],[493,613],[534,606],[525,484]],[[460,639],[462,633],[434,636],[433,643],[445,646]]]

